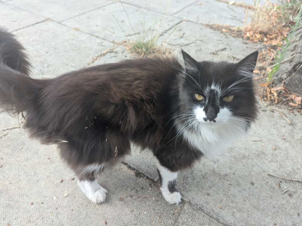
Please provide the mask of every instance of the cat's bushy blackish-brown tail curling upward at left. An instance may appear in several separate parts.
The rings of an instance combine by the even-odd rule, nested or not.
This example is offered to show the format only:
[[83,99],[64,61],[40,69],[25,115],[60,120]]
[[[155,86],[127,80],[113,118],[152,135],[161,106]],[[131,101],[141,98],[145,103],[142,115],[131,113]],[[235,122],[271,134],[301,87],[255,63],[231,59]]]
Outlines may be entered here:
[[32,106],[40,85],[29,77],[30,67],[23,46],[0,27],[0,110],[22,112]]

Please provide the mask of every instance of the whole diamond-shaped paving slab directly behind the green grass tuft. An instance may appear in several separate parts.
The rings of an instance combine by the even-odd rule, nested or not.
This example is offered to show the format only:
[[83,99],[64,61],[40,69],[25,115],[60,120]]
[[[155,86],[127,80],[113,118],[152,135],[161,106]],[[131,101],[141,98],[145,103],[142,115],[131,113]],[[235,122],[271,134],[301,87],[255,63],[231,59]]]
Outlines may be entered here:
[[[63,24],[78,27],[81,31],[111,42],[122,42],[159,35],[180,21],[179,18],[116,2],[66,20]],[[158,26],[159,23],[160,26]]]

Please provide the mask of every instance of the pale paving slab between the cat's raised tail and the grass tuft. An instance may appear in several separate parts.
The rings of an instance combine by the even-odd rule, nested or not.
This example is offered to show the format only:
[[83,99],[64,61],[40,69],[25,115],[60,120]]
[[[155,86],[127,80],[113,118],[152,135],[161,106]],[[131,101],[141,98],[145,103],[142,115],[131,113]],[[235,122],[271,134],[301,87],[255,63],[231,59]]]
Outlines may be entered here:
[[33,64],[33,77],[55,77],[88,66],[93,58],[114,45],[97,37],[48,20],[14,32]]

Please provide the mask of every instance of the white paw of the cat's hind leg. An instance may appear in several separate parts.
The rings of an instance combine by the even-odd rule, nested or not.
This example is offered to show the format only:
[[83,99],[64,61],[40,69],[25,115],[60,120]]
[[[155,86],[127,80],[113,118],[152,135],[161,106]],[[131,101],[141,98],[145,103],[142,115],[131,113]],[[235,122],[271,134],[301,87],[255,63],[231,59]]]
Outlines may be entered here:
[[104,202],[106,199],[106,193],[108,192],[101,185],[99,185],[95,180],[81,180],[78,181],[78,185],[82,192],[94,203]]

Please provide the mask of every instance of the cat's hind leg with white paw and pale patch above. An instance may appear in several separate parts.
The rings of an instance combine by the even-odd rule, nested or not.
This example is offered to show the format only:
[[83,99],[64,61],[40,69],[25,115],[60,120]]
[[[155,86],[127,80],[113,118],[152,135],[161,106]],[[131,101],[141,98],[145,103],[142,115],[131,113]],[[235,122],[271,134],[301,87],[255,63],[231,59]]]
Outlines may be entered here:
[[104,168],[103,164],[91,164],[77,170],[78,185],[82,192],[94,203],[104,202],[107,190],[95,180],[95,174]]

